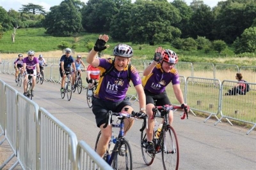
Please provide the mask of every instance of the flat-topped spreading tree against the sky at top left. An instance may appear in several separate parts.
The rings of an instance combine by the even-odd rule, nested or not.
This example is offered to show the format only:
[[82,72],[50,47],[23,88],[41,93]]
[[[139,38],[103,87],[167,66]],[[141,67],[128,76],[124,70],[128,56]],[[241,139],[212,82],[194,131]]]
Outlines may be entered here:
[[19,10],[21,13],[33,13],[35,14],[46,14],[44,7],[39,4],[22,4],[22,8]]

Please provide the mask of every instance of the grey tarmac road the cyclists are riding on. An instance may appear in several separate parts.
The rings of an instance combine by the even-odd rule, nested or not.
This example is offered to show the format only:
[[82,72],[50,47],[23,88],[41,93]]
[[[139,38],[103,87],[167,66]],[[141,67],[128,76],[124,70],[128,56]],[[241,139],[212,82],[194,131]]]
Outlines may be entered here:
[[[0,73],[0,79],[23,93],[22,87],[15,85],[14,76]],[[54,117],[67,125],[77,135],[94,148],[99,129],[95,124],[92,110],[85,100],[85,90],[81,94],[72,94],[72,99],[61,99],[60,84],[45,82],[36,84],[33,101],[48,110]],[[134,104],[138,111],[138,103]],[[177,132],[180,148],[179,169],[256,169],[256,132],[246,135],[248,129],[219,123],[216,120],[194,117],[180,120],[180,113],[175,112],[173,127]],[[161,119],[157,118],[157,122]],[[126,138],[132,146],[134,169],[163,169],[161,154],[157,154],[152,166],[145,166],[140,150],[140,131],[142,120],[136,120]],[[117,134],[115,129],[115,134]]]

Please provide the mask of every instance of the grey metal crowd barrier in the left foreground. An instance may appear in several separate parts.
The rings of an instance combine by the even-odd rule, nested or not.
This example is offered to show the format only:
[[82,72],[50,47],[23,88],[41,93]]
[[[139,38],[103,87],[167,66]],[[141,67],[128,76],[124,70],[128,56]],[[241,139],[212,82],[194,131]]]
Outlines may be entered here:
[[12,149],[0,169],[14,157],[17,161],[10,169],[111,169],[83,141],[77,145],[76,134],[60,120],[2,80],[0,106],[0,145],[8,141]]

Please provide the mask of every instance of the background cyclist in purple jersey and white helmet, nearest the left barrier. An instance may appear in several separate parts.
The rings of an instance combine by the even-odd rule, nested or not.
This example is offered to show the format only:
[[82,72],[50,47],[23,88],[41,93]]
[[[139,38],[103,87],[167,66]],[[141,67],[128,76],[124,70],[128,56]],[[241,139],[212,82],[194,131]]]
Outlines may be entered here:
[[23,69],[25,74],[25,79],[23,82],[23,88],[24,88],[24,96],[27,96],[27,85],[28,85],[28,74],[33,74],[32,76],[32,96],[34,96],[34,87],[36,84],[36,71],[37,76],[40,76],[40,67],[38,58],[34,57],[35,52],[32,50],[28,51],[28,57],[25,57],[23,59]]

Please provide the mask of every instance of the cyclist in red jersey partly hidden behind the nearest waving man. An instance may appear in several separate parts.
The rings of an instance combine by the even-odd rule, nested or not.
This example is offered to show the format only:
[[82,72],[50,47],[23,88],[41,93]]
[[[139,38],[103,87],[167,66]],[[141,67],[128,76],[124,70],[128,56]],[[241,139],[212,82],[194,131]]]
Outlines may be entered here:
[[[99,57],[96,57],[96,59],[99,59]],[[86,76],[86,81],[88,83],[88,96],[92,96],[92,87],[93,85],[93,80],[99,80],[100,78],[100,69],[98,67],[93,67],[91,64],[87,67],[87,76]],[[95,83],[95,82],[94,82]]]

